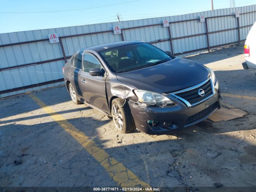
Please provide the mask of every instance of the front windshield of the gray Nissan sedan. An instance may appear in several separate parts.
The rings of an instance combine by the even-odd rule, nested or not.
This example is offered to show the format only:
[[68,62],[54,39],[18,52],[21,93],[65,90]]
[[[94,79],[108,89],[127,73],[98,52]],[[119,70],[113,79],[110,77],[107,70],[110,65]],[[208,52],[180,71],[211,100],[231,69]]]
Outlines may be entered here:
[[136,43],[105,49],[100,52],[114,72],[127,72],[157,65],[172,57],[148,44]]

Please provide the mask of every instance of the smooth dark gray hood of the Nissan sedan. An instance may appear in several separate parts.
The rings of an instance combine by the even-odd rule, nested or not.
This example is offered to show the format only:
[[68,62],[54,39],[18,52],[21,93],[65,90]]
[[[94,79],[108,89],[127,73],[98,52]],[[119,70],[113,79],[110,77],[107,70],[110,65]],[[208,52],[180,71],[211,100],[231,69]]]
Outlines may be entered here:
[[164,93],[199,84],[209,77],[209,71],[196,62],[174,58],[156,66],[116,73],[116,77],[137,89]]

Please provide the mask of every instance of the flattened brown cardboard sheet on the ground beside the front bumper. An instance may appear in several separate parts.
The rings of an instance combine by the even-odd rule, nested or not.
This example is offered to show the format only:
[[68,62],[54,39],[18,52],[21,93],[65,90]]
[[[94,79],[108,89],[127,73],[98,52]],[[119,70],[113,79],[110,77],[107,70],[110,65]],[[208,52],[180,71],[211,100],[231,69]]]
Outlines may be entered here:
[[247,113],[237,108],[220,108],[219,110],[214,112],[214,114],[212,114],[210,117],[208,117],[208,119],[212,120],[213,122],[228,121],[235,118],[243,117],[244,115],[247,115]]

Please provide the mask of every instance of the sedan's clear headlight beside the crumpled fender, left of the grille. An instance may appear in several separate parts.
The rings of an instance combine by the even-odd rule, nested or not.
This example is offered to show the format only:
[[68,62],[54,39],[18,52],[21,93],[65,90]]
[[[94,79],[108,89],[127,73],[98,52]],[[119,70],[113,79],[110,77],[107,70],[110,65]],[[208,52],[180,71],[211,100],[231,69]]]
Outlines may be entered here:
[[145,106],[160,107],[167,105],[174,105],[174,102],[163,96],[162,94],[144,91],[144,90],[134,90],[139,102],[143,103]]

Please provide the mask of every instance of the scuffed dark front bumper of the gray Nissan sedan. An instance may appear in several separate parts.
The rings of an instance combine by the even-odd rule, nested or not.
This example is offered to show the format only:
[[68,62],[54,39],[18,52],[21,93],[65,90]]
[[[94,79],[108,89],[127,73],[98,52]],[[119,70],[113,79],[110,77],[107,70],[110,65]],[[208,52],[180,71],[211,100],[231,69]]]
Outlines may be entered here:
[[187,108],[185,104],[174,97],[172,100],[176,104],[164,107],[145,107],[129,101],[136,128],[147,134],[166,134],[196,124],[220,108],[218,80],[214,89],[215,94],[211,98],[192,108]]

